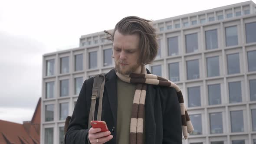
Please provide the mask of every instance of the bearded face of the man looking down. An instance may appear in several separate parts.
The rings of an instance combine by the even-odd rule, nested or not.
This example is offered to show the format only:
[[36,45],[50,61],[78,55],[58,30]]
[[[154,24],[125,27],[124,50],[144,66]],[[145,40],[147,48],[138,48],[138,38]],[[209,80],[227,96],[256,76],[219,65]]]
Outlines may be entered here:
[[139,40],[138,34],[122,35],[115,31],[113,41],[113,55],[115,58],[115,69],[122,75],[134,72],[139,64]]

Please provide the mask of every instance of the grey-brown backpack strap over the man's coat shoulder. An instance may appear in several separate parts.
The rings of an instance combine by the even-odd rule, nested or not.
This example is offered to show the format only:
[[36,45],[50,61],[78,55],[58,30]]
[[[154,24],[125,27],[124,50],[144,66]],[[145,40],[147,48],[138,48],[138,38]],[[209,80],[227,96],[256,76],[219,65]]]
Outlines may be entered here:
[[105,86],[105,74],[101,73],[98,75],[93,76],[93,87],[92,87],[92,101],[91,101],[91,108],[90,114],[88,119],[88,129],[91,128],[91,121],[95,120],[95,105],[96,100],[98,101],[98,114],[97,114],[97,121],[101,121],[102,118],[102,99],[103,99],[103,92]]

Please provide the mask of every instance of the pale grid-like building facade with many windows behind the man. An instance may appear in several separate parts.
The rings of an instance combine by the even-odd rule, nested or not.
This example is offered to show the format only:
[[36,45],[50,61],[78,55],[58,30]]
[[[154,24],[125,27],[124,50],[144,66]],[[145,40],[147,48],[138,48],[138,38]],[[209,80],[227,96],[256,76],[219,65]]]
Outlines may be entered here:
[[[195,131],[183,144],[256,144],[256,4],[156,20],[158,56],[147,68],[175,82]],[[64,144],[82,83],[114,67],[104,32],[43,56],[41,144]]]

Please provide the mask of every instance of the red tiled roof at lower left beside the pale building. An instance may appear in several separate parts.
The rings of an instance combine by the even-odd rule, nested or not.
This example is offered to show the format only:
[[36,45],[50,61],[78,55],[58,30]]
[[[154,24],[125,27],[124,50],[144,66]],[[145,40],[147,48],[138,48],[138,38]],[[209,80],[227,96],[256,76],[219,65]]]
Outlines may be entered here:
[[39,98],[31,121],[18,124],[0,120],[0,144],[39,144],[40,121],[38,119],[40,119],[40,109],[41,98]]

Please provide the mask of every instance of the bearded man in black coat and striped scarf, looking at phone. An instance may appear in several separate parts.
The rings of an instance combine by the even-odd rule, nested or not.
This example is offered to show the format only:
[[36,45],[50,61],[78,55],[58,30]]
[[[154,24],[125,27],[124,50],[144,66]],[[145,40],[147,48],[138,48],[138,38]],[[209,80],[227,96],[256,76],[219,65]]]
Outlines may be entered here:
[[128,16],[116,24],[113,34],[105,31],[113,42],[115,59],[115,69],[105,75],[102,102],[102,121],[109,131],[88,129],[91,78],[82,86],[66,144],[182,144],[182,131],[185,138],[191,132],[180,89],[171,81],[150,75],[144,66],[154,60],[158,49],[149,22]]

